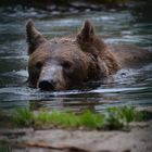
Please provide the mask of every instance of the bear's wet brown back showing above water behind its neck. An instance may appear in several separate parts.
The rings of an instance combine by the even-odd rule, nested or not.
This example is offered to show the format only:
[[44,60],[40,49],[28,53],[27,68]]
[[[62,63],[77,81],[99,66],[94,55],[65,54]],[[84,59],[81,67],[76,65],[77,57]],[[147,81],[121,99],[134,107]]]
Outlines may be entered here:
[[152,62],[152,52],[134,45],[110,45],[107,48],[122,68],[139,68]]

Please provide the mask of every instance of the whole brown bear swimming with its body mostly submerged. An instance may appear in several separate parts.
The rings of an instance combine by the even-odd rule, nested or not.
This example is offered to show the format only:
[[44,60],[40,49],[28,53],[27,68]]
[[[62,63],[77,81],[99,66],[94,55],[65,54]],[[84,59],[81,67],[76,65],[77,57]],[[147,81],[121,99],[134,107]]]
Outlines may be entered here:
[[105,45],[89,21],[75,36],[47,40],[31,20],[27,22],[26,33],[29,85],[42,90],[71,89],[152,60],[151,52],[135,46]]

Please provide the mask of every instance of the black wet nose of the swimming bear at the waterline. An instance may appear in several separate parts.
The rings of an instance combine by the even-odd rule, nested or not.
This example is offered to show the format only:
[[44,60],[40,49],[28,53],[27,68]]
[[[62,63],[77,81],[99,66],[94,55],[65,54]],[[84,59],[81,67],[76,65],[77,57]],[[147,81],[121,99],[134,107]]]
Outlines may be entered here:
[[41,90],[54,90],[53,83],[51,83],[51,81],[49,81],[49,80],[41,80],[41,81],[39,81],[38,87],[39,87]]

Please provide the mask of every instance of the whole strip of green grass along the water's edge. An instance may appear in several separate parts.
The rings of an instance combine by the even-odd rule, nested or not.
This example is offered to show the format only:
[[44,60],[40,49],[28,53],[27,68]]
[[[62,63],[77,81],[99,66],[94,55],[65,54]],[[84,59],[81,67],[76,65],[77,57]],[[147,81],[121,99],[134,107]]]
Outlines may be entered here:
[[34,113],[27,109],[18,109],[11,116],[16,127],[34,127],[36,129],[69,128],[69,129],[125,129],[130,122],[141,121],[142,114],[132,106],[111,107],[99,114],[85,111],[73,112],[40,111]]

